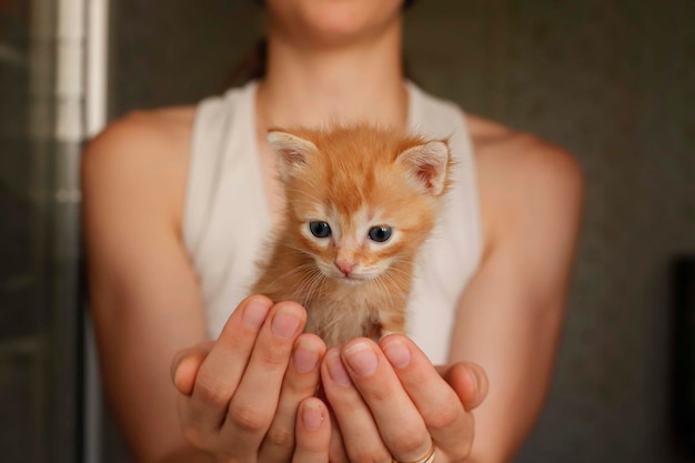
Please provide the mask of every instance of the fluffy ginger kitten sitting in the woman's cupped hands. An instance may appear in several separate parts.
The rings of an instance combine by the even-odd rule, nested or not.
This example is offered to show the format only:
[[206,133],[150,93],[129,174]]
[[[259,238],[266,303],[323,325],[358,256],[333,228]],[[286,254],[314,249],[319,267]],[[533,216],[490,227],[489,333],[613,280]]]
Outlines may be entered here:
[[403,332],[415,255],[450,184],[445,140],[367,124],[272,129],[286,208],[253,293],[296,301],[329,348]]

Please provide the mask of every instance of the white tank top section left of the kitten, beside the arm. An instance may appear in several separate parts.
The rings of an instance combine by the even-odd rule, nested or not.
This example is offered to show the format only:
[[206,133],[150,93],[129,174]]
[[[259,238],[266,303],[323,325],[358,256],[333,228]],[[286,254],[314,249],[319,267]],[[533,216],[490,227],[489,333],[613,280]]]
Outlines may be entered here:
[[252,81],[201,101],[193,123],[182,233],[211,336],[250,284],[258,243],[270,228],[255,139],[255,89]]

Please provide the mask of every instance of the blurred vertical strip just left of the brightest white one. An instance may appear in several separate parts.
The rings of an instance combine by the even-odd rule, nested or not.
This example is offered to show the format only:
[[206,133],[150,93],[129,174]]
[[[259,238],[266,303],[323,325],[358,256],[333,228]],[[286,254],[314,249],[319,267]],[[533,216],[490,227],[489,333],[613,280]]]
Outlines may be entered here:
[[[56,462],[82,460],[79,165],[84,138],[85,0],[56,2],[56,82],[50,225]],[[68,419],[66,419],[68,417]]]

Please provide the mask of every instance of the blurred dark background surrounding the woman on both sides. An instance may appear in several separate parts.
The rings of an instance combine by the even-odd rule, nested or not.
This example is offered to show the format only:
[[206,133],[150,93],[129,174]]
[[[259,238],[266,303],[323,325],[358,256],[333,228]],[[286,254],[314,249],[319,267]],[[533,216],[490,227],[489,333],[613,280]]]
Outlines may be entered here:
[[[2,462],[130,461],[83,318],[80,149],[128,111],[223,91],[262,23],[252,0],[0,0]],[[407,12],[417,83],[565,147],[587,181],[555,376],[517,462],[695,461],[693,24],[692,0]]]

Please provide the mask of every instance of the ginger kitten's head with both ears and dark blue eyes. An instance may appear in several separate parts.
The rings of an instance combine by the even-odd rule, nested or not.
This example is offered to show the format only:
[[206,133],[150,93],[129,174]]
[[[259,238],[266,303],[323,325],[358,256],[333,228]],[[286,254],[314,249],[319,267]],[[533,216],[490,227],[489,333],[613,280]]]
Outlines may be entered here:
[[341,283],[397,278],[434,227],[446,143],[366,125],[273,131],[269,142],[280,155],[293,246]]

